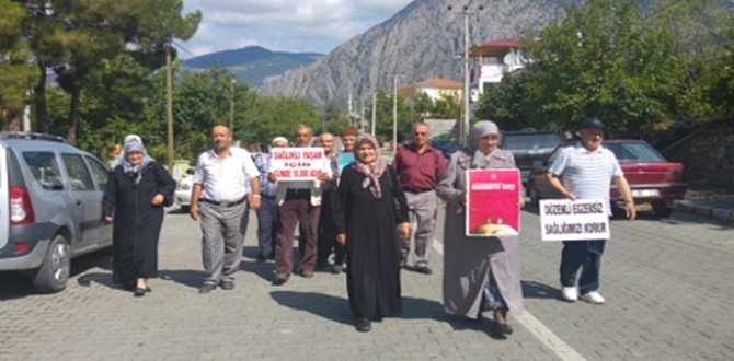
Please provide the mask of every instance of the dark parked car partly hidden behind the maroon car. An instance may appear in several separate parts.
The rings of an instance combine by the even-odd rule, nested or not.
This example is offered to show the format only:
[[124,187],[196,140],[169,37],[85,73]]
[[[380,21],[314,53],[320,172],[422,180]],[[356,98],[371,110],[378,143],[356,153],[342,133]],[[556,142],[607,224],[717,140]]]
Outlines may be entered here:
[[548,158],[555,147],[563,143],[561,137],[550,130],[526,128],[520,131],[500,133],[497,148],[513,153],[515,164],[520,168],[520,179],[527,186],[535,163]]

